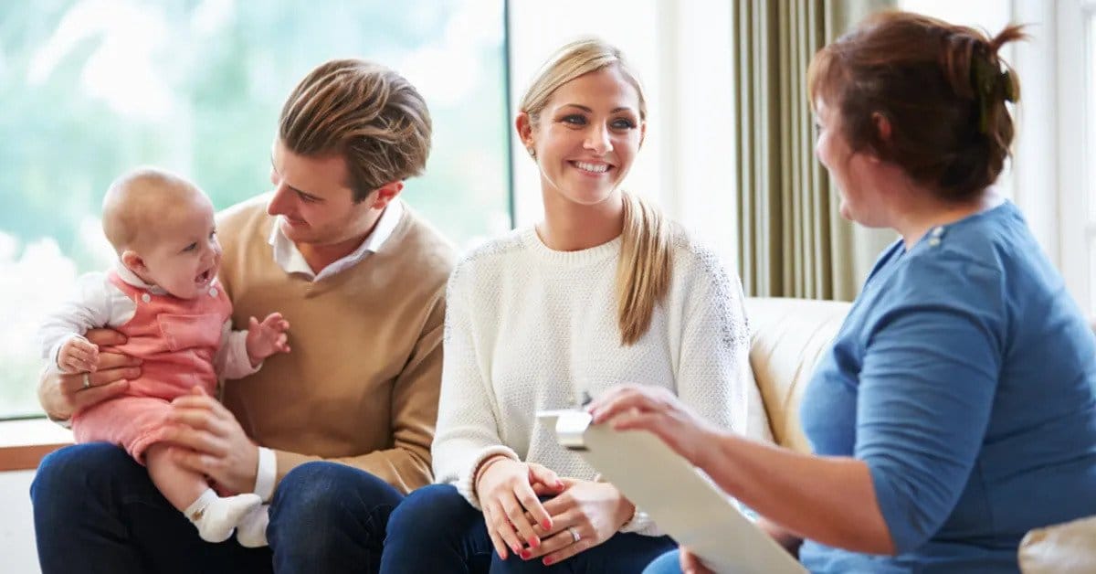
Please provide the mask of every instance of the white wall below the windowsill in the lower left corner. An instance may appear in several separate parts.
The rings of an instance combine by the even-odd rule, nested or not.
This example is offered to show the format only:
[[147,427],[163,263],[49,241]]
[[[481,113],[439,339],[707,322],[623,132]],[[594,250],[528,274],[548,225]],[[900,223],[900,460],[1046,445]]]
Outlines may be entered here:
[[34,545],[34,519],[31,514],[31,481],[34,471],[0,472],[0,571],[12,574],[37,574],[38,555]]

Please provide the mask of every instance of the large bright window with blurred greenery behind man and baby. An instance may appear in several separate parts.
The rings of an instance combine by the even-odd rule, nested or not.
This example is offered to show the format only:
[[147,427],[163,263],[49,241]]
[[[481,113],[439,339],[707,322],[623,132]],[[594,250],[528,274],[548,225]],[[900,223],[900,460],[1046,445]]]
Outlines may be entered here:
[[218,207],[267,191],[284,98],[317,64],[376,59],[430,103],[406,201],[458,245],[511,226],[503,0],[0,2],[0,418],[38,413],[34,334],[113,252],[99,205],[151,164]]

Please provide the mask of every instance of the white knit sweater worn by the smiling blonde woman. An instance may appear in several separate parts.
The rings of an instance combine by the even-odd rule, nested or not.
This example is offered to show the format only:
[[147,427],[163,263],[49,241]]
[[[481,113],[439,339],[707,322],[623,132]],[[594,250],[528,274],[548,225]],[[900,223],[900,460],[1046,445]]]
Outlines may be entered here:
[[[620,243],[553,251],[529,227],[473,250],[453,271],[434,476],[455,483],[472,506],[472,474],[493,454],[593,480],[535,415],[616,383],[665,386],[706,419],[770,440],[737,278],[678,232],[666,300],[647,334],[625,347],[615,295]],[[658,533],[642,514],[625,530]]]

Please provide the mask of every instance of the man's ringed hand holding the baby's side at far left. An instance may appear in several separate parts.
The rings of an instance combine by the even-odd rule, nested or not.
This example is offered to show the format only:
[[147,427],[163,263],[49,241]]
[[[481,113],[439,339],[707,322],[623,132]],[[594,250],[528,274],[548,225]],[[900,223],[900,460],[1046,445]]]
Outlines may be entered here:
[[[125,335],[112,329],[92,329],[84,337],[98,347],[126,342]],[[140,359],[115,352],[100,352],[94,372],[48,374],[38,381],[38,402],[55,420],[117,396],[129,389],[129,381],[140,376]]]

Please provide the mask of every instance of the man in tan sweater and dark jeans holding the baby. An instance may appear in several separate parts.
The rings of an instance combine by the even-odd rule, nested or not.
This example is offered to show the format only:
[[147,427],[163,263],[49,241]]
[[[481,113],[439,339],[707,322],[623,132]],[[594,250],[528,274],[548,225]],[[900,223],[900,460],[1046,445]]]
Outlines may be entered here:
[[[269,549],[203,542],[124,451],[78,444],[47,457],[31,488],[45,574],[377,570],[388,513],[431,481],[454,254],[397,199],[422,172],[430,137],[406,79],[329,61],[282,110],[273,194],[219,216],[233,323],[278,311],[292,351],[228,383],[222,404],[176,399],[169,439],[219,488],[270,503]],[[89,338],[122,342],[113,331]],[[52,418],[139,376],[134,360],[100,357],[94,373],[43,379]]]

